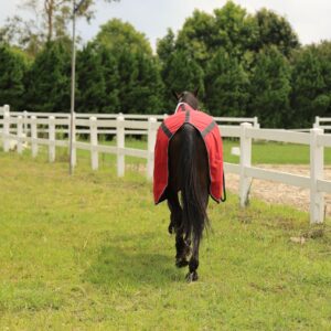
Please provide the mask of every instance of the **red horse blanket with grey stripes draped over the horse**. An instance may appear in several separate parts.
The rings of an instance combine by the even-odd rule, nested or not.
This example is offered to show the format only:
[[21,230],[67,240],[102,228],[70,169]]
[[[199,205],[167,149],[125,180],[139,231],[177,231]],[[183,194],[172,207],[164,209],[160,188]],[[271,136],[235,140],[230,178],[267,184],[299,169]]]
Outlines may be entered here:
[[214,119],[199,110],[194,110],[188,104],[181,104],[174,115],[163,120],[158,130],[154,149],[154,175],[153,194],[154,203],[162,202],[168,185],[168,147],[174,134],[189,122],[194,126],[204,140],[209,154],[210,166],[210,195],[216,201],[222,200],[223,191],[223,146],[220,129]]

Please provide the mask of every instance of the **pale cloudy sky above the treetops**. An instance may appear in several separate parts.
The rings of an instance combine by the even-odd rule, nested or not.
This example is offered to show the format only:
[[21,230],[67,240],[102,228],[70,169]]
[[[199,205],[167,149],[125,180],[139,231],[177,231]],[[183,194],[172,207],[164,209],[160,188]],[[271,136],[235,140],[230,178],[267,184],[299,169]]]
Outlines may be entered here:
[[[42,0],[40,0],[42,1]],[[0,0],[0,26],[7,17],[18,11],[22,0]],[[96,18],[88,24],[84,19],[77,22],[77,31],[84,41],[93,39],[99,26],[113,18],[131,23],[143,32],[156,49],[157,39],[163,38],[167,29],[180,30],[194,9],[212,13],[226,0],[120,0],[106,3],[96,0]],[[302,44],[331,40],[331,0],[234,0],[249,13],[260,8],[274,10],[287,18]]]

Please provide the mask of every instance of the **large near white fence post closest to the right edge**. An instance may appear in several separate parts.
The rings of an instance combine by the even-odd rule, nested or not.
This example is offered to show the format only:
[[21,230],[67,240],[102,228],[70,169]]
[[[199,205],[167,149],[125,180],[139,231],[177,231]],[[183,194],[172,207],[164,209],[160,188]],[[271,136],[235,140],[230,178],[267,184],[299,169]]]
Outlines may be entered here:
[[318,191],[318,180],[323,179],[324,147],[318,145],[322,129],[310,130],[310,223],[323,223],[324,193]]

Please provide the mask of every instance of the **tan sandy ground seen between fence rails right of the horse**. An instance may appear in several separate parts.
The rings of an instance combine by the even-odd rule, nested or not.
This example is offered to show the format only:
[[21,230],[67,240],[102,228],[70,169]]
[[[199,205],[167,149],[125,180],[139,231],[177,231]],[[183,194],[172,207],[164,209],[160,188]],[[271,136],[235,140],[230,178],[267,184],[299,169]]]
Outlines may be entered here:
[[[301,175],[309,175],[308,166],[286,164],[259,164],[257,166],[264,169],[275,169],[282,172],[296,173]],[[324,168],[324,178],[331,179],[331,167]],[[237,194],[239,177],[233,173],[225,174],[226,188],[231,192]],[[286,204],[296,206],[299,210],[309,211],[309,190],[290,186],[282,183],[263,181],[254,179],[250,188],[250,195],[275,204]],[[325,195],[327,214],[331,215],[331,195]]]

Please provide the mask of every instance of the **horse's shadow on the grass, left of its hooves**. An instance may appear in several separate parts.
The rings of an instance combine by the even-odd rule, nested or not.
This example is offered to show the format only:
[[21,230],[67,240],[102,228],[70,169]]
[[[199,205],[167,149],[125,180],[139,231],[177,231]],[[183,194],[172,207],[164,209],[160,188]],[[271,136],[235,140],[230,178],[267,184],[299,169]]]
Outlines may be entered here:
[[175,268],[172,256],[160,254],[157,249],[152,253],[150,246],[126,247],[124,243],[116,241],[103,246],[84,278],[100,287],[120,285],[139,288],[148,285],[159,288],[173,281],[183,281],[184,273]]

